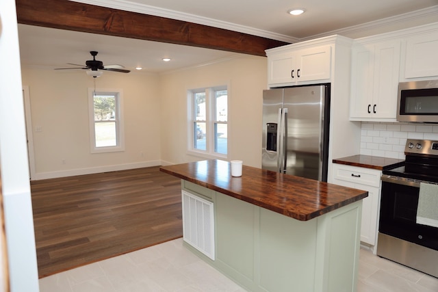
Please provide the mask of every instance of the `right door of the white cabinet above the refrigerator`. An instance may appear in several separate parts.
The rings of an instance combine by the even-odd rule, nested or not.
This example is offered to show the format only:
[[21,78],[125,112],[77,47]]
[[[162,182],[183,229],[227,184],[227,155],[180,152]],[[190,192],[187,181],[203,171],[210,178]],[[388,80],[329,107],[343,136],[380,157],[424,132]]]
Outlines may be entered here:
[[298,51],[296,77],[298,81],[330,79],[331,46],[322,46]]

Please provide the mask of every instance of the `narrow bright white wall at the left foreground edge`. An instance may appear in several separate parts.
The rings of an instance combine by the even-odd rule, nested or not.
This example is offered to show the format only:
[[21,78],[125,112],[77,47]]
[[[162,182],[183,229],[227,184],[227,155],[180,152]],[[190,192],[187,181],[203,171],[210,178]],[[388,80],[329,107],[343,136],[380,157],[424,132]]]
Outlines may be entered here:
[[1,189],[10,287],[12,292],[36,292],[38,269],[14,0],[0,1],[0,64]]

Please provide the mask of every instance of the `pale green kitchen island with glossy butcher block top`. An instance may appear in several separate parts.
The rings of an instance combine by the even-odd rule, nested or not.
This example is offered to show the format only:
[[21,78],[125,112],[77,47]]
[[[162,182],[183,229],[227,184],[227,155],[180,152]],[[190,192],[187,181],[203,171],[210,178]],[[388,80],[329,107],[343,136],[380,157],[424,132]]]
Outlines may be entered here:
[[366,191],[246,165],[232,177],[220,160],[160,170],[181,178],[185,245],[248,291],[356,291]]

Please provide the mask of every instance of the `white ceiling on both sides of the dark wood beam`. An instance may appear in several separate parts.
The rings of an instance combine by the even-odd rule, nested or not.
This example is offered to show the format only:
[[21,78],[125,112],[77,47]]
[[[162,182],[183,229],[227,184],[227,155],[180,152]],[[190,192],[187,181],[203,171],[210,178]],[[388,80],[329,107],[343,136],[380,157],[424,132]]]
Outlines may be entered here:
[[[120,10],[140,12],[244,32],[286,42],[342,34],[359,38],[438,21],[438,0],[81,0]],[[305,14],[290,16],[290,8]],[[166,72],[236,55],[235,53],[86,34],[77,31],[18,25],[24,66],[69,67],[92,59],[99,51],[104,64],[129,70]],[[162,57],[172,58],[164,63]]]

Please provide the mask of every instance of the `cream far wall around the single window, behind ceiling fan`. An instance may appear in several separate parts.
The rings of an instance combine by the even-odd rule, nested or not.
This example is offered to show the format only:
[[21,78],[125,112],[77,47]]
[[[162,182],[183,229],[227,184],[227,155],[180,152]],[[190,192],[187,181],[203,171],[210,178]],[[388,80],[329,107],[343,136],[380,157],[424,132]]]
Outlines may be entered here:
[[[70,176],[160,164],[158,76],[104,72],[96,90],[123,91],[125,151],[90,153],[88,88],[84,70],[23,68],[29,86],[36,177]],[[40,127],[42,131],[36,131]],[[65,160],[65,164],[62,163]]]

